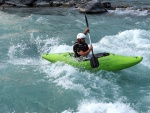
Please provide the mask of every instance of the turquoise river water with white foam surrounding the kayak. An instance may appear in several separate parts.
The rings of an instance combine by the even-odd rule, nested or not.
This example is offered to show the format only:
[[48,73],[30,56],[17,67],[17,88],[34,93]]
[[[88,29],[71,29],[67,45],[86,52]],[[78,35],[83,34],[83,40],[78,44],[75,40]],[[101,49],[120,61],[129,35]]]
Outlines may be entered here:
[[40,55],[72,51],[85,29],[84,15],[72,8],[5,9],[0,11],[1,113],[150,113],[150,13],[117,9],[87,16],[95,53],[143,56],[143,61],[96,73],[52,64]]

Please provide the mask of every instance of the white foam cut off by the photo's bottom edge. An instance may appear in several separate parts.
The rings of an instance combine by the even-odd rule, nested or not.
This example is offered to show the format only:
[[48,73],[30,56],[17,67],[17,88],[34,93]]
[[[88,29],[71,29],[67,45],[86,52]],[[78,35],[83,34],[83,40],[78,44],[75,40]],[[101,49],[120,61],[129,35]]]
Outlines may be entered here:
[[97,101],[83,101],[77,111],[65,110],[62,113],[137,113],[130,104],[122,102],[102,103]]

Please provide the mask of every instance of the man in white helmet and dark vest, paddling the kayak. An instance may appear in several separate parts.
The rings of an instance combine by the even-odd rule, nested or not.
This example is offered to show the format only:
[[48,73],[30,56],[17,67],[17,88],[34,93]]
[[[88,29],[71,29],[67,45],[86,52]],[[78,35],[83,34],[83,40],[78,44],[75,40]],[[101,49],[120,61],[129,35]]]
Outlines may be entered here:
[[93,49],[92,45],[88,47],[85,42],[86,34],[89,32],[89,28],[86,28],[84,33],[77,34],[77,42],[75,42],[73,46],[73,51],[75,53],[75,57],[86,57],[90,51]]

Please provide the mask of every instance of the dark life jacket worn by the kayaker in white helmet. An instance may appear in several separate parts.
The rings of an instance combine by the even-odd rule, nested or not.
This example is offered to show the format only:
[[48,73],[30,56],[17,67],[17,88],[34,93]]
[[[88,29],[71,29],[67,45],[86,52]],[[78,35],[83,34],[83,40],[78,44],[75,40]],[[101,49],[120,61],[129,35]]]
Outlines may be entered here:
[[73,46],[73,51],[75,53],[75,57],[80,57],[81,55],[79,52],[82,50],[83,52],[87,51],[89,49],[88,45],[86,43],[79,43],[75,42]]

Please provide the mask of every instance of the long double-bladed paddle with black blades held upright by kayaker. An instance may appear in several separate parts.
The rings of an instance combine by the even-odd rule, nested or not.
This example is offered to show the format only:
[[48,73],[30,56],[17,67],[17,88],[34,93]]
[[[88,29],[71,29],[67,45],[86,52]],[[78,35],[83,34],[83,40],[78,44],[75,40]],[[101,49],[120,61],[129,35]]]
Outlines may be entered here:
[[[87,20],[86,13],[85,13],[85,21],[86,21],[86,26],[87,26],[87,28],[89,28],[89,23],[88,23],[88,20]],[[91,37],[90,37],[90,32],[88,32],[88,36],[89,36],[90,45],[92,45]],[[99,67],[99,62],[98,62],[97,57],[94,56],[93,49],[92,49],[92,57],[91,57],[91,59],[90,59],[90,64],[91,64],[91,67],[92,67],[92,68],[97,68],[97,67]]]

